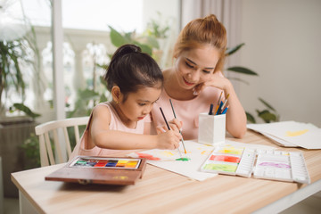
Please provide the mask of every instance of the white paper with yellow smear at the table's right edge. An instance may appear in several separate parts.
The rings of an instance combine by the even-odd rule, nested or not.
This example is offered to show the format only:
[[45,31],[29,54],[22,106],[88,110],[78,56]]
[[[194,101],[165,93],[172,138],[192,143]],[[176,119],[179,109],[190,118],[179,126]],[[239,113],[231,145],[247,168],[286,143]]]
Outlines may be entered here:
[[[321,149],[321,128],[317,128],[310,123],[284,121],[267,124],[248,124],[247,127],[306,149]],[[282,142],[279,143],[282,144]]]

